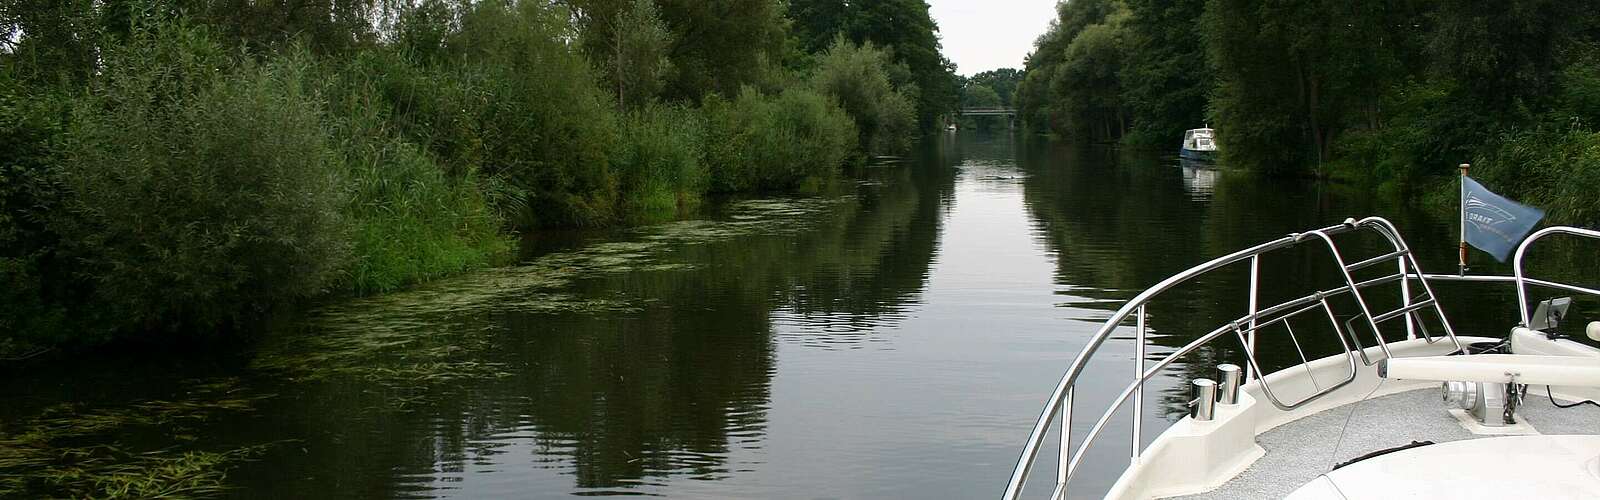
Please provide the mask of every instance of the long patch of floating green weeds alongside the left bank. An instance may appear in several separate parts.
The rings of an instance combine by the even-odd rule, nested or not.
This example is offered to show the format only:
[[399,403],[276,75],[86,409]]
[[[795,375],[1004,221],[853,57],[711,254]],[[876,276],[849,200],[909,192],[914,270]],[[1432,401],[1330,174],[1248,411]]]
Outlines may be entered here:
[[254,369],[298,381],[363,380],[410,389],[470,378],[510,377],[485,361],[504,327],[494,314],[616,316],[643,311],[650,298],[586,293],[586,279],[626,272],[685,272],[677,252],[754,234],[794,234],[848,199],[742,200],[725,220],[637,228],[618,240],[549,253],[523,264],[437,280],[408,292],[357,298],[314,311],[299,332],[269,338]]

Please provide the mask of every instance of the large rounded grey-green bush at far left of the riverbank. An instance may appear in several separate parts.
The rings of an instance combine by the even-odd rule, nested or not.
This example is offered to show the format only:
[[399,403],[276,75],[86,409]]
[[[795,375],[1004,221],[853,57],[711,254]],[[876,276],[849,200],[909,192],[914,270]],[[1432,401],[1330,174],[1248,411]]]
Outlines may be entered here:
[[205,329],[326,290],[349,256],[306,62],[163,27],[107,50],[62,146],[62,250],[120,330]]

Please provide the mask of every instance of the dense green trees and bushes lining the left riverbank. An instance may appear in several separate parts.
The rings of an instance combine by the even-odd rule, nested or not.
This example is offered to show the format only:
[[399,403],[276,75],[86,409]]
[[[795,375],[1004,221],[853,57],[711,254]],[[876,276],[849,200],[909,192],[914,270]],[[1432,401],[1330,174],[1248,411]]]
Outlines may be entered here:
[[827,191],[955,107],[936,30],[922,0],[0,0],[0,357]]

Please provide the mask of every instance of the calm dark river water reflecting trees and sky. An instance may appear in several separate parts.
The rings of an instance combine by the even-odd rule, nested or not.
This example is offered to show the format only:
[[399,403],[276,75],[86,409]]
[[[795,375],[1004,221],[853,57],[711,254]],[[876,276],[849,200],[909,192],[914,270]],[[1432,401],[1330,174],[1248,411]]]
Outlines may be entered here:
[[[226,356],[8,367],[0,492],[93,495],[115,482],[70,471],[194,465],[189,492],[245,498],[984,498],[1085,340],[1171,272],[1363,215],[1454,268],[1448,216],[1152,154],[962,133],[853,179],[546,239],[523,264],[342,301]],[[1307,261],[1266,264],[1269,287],[1328,277]],[[1238,316],[1243,284],[1152,308],[1147,357]],[[1462,333],[1514,314],[1506,293],[1440,295]],[[1130,332],[1090,369],[1080,423],[1128,383]],[[1219,345],[1155,381],[1146,441],[1187,378],[1238,359]],[[1290,346],[1264,340],[1264,357],[1298,362]],[[1120,415],[1077,494],[1126,465]]]

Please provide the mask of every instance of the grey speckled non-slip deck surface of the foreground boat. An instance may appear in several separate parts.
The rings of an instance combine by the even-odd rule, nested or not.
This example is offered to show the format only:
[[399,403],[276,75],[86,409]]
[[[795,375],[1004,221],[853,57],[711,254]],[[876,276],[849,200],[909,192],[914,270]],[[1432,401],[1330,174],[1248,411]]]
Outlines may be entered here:
[[[1557,397],[1560,401],[1560,397]],[[1562,401],[1563,404],[1570,401]],[[1542,386],[1528,389],[1520,421],[1539,434],[1600,434],[1600,407],[1558,409]],[[1413,441],[1493,438],[1469,433],[1440,401],[1440,389],[1414,389],[1323,410],[1256,436],[1267,450],[1214,490],[1174,498],[1283,498],[1302,484],[1376,450]],[[1419,468],[1422,471],[1426,468]]]

